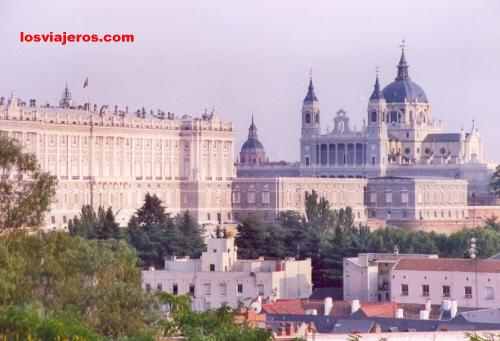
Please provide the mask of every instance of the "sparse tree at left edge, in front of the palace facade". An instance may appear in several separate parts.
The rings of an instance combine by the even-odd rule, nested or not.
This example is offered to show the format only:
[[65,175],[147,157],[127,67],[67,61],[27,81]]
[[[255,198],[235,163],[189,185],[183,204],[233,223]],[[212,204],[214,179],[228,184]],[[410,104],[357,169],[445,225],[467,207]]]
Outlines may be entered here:
[[0,136],[0,229],[40,226],[55,188],[56,179],[42,172],[33,154]]

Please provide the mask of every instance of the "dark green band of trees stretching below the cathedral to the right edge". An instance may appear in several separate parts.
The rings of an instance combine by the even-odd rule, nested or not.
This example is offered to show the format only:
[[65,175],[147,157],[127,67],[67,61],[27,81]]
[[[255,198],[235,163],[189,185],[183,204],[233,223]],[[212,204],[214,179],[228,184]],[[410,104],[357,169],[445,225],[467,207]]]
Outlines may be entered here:
[[344,257],[361,252],[435,253],[441,257],[468,257],[471,238],[476,238],[478,256],[500,252],[500,223],[496,217],[485,227],[464,229],[451,235],[386,227],[370,231],[356,226],[352,210],[333,210],[313,191],[306,194],[305,216],[282,213],[278,224],[247,219],[238,226],[236,244],[243,258],[258,256],[310,257],[316,286],[331,285],[342,276]]

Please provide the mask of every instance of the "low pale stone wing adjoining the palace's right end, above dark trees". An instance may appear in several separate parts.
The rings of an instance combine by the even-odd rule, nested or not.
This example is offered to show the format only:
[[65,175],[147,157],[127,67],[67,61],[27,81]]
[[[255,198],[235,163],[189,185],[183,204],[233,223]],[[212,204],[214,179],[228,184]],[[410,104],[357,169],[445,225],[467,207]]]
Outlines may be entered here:
[[304,214],[305,194],[314,190],[326,198],[333,209],[349,206],[356,222],[366,222],[366,182],[366,179],[238,177],[233,182],[233,214],[237,220],[251,216],[267,222],[290,210]]

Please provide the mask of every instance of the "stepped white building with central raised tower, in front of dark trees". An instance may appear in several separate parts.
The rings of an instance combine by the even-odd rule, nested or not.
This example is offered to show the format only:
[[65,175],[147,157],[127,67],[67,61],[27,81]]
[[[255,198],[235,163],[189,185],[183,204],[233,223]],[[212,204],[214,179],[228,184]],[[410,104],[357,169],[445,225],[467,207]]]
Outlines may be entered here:
[[307,298],[311,260],[238,259],[234,238],[213,238],[200,259],[173,258],[164,270],[142,272],[145,290],[192,296],[194,310],[237,308],[260,297]]

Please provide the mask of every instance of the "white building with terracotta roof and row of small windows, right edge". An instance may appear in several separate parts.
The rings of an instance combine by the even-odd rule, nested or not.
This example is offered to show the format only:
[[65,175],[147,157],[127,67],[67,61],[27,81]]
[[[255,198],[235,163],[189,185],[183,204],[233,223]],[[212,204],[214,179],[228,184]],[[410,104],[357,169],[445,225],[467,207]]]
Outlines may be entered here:
[[500,260],[401,259],[391,272],[391,300],[397,303],[494,308],[500,305]]

